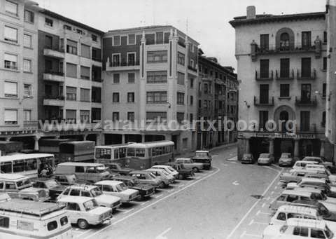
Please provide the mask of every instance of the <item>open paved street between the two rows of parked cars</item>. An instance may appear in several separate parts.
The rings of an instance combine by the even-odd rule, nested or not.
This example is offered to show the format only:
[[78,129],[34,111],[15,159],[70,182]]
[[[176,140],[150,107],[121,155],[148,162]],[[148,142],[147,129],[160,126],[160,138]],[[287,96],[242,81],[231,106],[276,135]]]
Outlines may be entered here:
[[150,200],[121,207],[111,225],[75,229],[76,238],[256,238],[265,225],[253,225],[261,226],[259,231],[248,231],[246,225],[251,226],[252,212],[271,200],[267,196],[281,169],[226,161],[236,151],[235,146],[213,151],[213,170],[197,173],[193,180],[178,180]]

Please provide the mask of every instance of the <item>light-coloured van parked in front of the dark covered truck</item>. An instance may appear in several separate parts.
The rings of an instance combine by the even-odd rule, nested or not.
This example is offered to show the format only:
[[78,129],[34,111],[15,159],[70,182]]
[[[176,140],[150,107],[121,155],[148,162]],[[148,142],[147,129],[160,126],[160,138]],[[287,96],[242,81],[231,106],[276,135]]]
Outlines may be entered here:
[[110,173],[102,163],[59,163],[55,169],[55,175],[76,175],[78,179],[89,182],[98,182],[109,177]]

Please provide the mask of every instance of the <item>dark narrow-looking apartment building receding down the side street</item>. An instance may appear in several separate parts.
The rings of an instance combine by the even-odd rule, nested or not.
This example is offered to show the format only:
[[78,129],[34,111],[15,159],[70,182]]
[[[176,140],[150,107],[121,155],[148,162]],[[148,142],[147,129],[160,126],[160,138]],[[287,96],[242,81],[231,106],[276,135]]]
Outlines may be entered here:
[[235,131],[225,131],[223,127],[225,118],[237,122],[238,81],[233,71],[218,64],[216,57],[206,57],[200,50],[197,117],[216,121],[217,130],[206,130],[207,125],[205,130],[198,128],[197,149],[209,149],[237,139]]

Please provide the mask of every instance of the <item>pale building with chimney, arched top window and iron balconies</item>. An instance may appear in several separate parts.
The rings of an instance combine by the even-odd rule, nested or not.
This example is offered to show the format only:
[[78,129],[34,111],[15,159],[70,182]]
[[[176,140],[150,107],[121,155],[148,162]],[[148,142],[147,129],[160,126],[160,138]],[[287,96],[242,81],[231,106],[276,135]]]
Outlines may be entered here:
[[249,6],[246,16],[230,24],[244,93],[239,94],[239,120],[250,126],[239,132],[238,157],[290,152],[295,158],[331,159],[325,142],[325,13],[256,15]]

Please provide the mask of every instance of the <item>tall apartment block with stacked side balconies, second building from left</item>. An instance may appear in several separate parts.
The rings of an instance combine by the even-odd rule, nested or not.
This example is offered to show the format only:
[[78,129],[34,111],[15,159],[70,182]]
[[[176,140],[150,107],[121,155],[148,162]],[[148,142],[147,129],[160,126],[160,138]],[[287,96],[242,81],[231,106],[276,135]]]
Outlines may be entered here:
[[[38,137],[71,137],[100,144],[102,119],[102,36],[104,32],[39,9],[38,119],[55,124]],[[70,125],[57,130],[56,123]],[[85,130],[72,127],[85,124]]]

